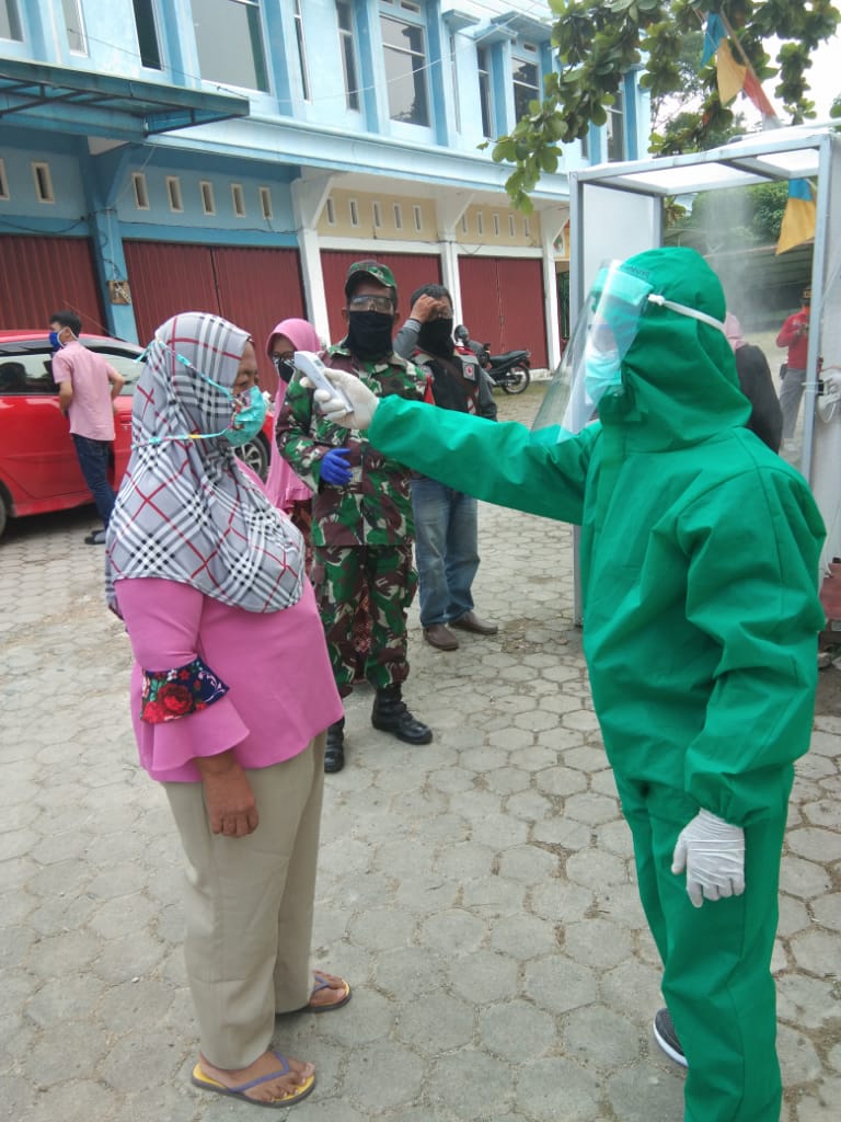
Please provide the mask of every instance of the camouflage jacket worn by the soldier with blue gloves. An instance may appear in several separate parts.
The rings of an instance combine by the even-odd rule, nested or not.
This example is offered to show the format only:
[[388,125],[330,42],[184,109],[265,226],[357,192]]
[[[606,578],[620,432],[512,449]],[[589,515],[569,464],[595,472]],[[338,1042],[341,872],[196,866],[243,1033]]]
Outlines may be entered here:
[[[424,371],[397,355],[364,362],[339,343],[321,358],[329,367],[355,374],[378,397],[424,398]],[[325,421],[298,375],[289,383],[275,433],[280,454],[313,489],[313,545],[395,545],[413,536],[408,468],[381,456],[363,430]],[[350,450],[353,478],[345,487],[321,481],[321,461],[331,448]]]

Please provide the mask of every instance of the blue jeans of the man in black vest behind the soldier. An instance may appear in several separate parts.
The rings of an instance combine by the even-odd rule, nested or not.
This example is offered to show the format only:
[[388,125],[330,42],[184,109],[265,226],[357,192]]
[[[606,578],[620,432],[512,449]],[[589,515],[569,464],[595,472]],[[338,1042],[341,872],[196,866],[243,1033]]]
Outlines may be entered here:
[[477,500],[434,479],[412,480],[420,624],[446,624],[473,610],[479,568]]

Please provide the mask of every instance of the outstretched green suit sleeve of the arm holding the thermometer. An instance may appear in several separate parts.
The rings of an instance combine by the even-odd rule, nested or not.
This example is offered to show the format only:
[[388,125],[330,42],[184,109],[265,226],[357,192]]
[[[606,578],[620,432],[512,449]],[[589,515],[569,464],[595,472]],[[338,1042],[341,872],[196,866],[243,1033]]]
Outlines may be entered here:
[[580,524],[593,442],[593,425],[558,444],[532,433],[434,405],[388,397],[368,436],[383,454],[447,487],[498,506]]

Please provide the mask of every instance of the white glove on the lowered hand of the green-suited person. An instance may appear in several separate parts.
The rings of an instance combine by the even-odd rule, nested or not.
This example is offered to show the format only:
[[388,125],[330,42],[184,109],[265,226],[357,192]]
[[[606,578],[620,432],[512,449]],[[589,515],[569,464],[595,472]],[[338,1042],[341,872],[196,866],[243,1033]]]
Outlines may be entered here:
[[706,900],[740,896],[745,891],[745,830],[699,810],[677,835],[672,872],[686,870],[686,892],[700,908]]

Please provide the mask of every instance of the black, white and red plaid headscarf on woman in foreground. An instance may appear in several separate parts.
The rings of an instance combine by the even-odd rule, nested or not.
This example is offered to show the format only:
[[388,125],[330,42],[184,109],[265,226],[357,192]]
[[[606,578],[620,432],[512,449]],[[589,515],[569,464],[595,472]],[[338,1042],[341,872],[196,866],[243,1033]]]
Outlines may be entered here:
[[230,425],[231,398],[207,378],[233,392],[249,341],[227,320],[184,312],[149,344],[135,388],[131,458],[108,525],[114,610],[114,582],[129,577],[191,585],[247,611],[278,611],[301,597],[301,533],[240,470],[229,441],[165,439]]

